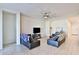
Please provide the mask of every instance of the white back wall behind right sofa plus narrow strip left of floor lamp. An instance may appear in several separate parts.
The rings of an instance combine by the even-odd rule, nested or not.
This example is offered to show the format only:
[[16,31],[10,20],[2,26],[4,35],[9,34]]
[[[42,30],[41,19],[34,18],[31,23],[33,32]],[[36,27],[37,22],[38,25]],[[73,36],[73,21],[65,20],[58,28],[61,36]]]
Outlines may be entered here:
[[60,31],[61,28],[67,33],[67,18],[49,19],[46,21],[46,36],[50,35],[50,26],[52,27],[52,33]]

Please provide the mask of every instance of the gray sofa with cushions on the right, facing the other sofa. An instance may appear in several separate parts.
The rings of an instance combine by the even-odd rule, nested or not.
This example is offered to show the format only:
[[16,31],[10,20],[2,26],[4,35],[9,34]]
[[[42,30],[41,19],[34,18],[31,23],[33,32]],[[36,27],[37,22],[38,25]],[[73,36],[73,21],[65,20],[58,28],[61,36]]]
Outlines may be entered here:
[[55,46],[55,47],[59,47],[64,42],[65,42],[64,32],[55,33],[51,38],[47,40],[48,45]]

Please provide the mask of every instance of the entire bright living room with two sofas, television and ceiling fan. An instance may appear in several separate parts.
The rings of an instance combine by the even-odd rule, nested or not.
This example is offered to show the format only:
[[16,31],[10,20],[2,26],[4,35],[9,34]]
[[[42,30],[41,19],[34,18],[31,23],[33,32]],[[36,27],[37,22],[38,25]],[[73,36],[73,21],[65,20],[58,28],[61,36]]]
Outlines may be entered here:
[[[0,54],[79,54],[78,10],[78,3],[0,4]],[[26,44],[27,38],[36,43]]]

